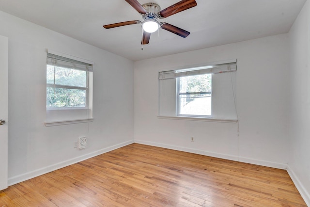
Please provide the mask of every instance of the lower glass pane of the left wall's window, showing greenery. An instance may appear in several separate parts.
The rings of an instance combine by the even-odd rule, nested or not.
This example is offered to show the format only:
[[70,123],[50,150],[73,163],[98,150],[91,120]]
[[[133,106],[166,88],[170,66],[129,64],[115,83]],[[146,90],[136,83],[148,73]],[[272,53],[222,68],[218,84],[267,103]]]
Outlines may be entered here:
[[86,90],[47,87],[47,108],[86,107]]

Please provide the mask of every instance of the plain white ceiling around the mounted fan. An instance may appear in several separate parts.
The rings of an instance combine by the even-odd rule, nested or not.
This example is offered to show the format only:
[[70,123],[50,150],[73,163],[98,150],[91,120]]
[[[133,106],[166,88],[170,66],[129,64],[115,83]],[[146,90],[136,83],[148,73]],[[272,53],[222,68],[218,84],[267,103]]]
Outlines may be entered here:
[[[139,0],[161,9],[178,1]],[[191,32],[188,37],[160,29],[143,50],[140,24],[102,27],[142,20],[125,0],[0,0],[0,10],[136,61],[288,32],[306,0],[196,1],[161,20]]]

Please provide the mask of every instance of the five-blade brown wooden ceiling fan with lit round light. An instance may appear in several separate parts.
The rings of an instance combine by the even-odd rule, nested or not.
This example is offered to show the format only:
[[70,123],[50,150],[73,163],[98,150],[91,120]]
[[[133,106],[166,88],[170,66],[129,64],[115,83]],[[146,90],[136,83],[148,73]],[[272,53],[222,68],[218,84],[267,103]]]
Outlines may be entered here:
[[186,9],[192,8],[197,5],[196,0],[181,0],[166,9],[160,10],[160,6],[156,3],[145,3],[141,5],[138,0],[125,0],[127,1],[134,9],[136,9],[143,18],[143,21],[134,20],[134,21],[125,21],[114,24],[104,25],[106,29],[131,25],[131,24],[140,24],[142,25],[143,35],[142,35],[142,45],[149,44],[151,33],[162,28],[169,32],[175,33],[181,37],[187,37],[189,32],[168,24],[166,22],[158,22],[157,19],[163,19],[168,16],[174,15],[176,13],[182,12]]

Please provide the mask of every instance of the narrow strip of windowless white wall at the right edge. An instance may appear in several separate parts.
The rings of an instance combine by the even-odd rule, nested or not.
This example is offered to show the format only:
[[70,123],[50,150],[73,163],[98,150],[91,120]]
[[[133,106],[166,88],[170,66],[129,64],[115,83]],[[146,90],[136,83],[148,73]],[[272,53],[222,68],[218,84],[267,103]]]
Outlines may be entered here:
[[310,206],[310,1],[290,35],[290,156],[288,172]]

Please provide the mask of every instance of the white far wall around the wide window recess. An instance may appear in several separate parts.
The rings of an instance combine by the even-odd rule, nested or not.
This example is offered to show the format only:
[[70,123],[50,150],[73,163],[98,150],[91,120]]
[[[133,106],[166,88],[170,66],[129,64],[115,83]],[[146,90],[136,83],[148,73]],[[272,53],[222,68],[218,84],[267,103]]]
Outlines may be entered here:
[[[135,142],[286,168],[288,57],[282,34],[135,62]],[[237,59],[239,136],[238,124],[157,117],[158,71],[231,59]]]

